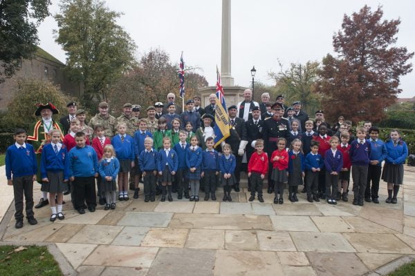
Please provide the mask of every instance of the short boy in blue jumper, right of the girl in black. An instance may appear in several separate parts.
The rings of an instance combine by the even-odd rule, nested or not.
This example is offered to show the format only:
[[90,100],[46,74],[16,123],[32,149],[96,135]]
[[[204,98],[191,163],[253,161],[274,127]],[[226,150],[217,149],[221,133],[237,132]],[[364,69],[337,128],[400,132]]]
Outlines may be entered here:
[[[306,122],[307,128],[307,122]],[[311,136],[310,136],[311,137]],[[319,141],[312,140],[311,152],[308,152],[306,155],[306,193],[308,202],[320,201],[317,197],[317,188],[318,188],[318,175],[320,170],[324,166],[324,161],[322,156],[318,153],[318,148],[320,146]]]

